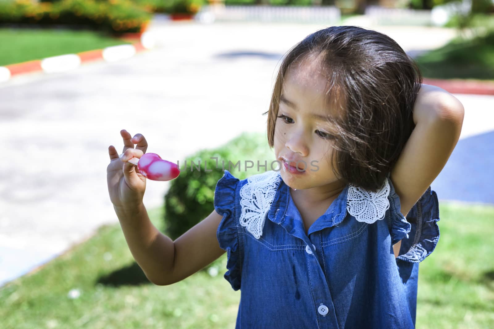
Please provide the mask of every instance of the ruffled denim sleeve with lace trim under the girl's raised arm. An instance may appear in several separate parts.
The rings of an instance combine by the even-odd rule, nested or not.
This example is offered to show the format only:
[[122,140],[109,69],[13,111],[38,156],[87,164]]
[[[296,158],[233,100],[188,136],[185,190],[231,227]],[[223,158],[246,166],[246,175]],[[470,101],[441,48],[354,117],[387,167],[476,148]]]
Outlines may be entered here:
[[429,186],[405,218],[390,175],[388,180],[391,242],[394,245],[402,240],[397,259],[418,263],[434,251],[439,241],[439,202],[436,192]]

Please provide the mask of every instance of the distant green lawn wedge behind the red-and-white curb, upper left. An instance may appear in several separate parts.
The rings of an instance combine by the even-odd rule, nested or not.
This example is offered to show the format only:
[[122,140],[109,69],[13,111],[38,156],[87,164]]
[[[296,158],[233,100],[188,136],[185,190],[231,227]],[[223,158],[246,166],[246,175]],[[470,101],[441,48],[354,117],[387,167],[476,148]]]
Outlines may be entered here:
[[0,29],[0,66],[128,43],[95,31]]

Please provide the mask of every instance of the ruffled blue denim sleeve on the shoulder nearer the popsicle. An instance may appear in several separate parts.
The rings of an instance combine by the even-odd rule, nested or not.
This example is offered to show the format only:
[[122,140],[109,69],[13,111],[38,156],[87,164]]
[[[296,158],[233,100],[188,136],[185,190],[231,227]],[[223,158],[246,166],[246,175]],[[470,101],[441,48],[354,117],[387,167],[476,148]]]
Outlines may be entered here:
[[236,191],[239,179],[225,170],[223,177],[216,183],[214,191],[214,210],[223,216],[216,231],[221,249],[227,252],[228,271],[225,279],[230,282],[233,290],[240,289],[242,274],[242,247],[239,241],[239,220],[236,213]]

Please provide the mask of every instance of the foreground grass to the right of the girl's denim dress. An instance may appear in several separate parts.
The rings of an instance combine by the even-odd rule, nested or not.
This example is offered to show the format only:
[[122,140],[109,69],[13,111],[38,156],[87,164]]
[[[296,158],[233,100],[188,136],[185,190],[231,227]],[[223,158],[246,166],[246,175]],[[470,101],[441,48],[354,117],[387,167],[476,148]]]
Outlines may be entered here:
[[441,237],[419,265],[417,328],[494,324],[494,207],[440,204]]

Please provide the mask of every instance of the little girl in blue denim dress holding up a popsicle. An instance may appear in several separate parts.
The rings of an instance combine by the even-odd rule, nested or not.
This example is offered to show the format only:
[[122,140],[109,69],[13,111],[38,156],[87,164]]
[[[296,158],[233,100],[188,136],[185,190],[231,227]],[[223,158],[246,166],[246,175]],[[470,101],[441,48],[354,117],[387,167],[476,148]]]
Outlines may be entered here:
[[108,188],[132,255],[169,285],[227,251],[236,328],[414,328],[418,263],[439,240],[430,183],[464,113],[421,82],[384,34],[307,36],[284,57],[266,112],[277,161],[246,180],[225,170],[214,210],[175,241],[150,223],[146,179],[128,162],[147,142],[122,130],[124,165],[110,146]]

